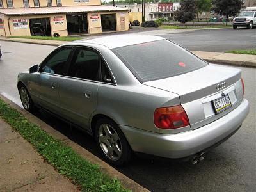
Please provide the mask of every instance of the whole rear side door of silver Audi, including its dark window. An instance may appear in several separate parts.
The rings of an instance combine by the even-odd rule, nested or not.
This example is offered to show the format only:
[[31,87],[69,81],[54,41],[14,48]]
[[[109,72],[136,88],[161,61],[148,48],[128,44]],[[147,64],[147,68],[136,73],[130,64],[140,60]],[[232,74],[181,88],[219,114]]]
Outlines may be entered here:
[[88,47],[76,47],[67,76],[60,83],[61,113],[81,127],[88,128],[97,108],[100,81],[99,54]]

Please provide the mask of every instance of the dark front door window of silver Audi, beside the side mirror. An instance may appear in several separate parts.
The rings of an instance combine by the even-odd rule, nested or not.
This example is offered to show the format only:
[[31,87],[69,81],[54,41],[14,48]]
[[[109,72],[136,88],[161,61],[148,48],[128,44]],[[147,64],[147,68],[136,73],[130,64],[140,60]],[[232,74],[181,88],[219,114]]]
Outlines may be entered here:
[[60,51],[54,52],[42,64],[40,72],[63,75],[63,69],[65,68],[71,50],[72,47],[65,47]]

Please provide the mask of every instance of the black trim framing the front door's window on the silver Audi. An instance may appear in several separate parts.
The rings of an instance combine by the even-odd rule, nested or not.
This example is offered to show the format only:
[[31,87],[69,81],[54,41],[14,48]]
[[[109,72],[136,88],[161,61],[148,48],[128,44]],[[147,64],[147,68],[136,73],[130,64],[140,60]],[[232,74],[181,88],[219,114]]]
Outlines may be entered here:
[[[68,47],[71,47],[71,51],[70,51],[70,54],[69,54],[69,56],[68,56],[67,62],[65,63],[65,67],[63,68],[62,75],[60,75],[60,74],[51,74],[51,73],[43,72],[43,71],[42,71],[42,68],[45,66],[45,62],[49,61],[49,59],[51,59],[52,55],[56,54],[56,52],[58,52],[58,51],[61,51],[61,50],[63,50],[63,49],[67,49]],[[49,74],[49,75],[52,75],[52,76],[66,76],[66,75],[67,75],[67,68],[69,67],[70,62],[71,62],[71,58],[72,58],[72,56],[73,56],[73,54],[74,54],[74,49],[75,49],[75,46],[73,46],[73,45],[61,46],[61,47],[55,49],[54,51],[52,51],[52,52],[40,63],[38,72],[40,72],[40,74]]]

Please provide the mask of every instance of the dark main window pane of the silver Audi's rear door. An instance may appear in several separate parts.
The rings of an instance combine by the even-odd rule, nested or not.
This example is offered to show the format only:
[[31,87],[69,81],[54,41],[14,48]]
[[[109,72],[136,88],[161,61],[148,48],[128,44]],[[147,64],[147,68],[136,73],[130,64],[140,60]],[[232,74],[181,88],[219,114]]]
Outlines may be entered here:
[[78,47],[72,58],[68,76],[99,81],[99,54],[92,49]]

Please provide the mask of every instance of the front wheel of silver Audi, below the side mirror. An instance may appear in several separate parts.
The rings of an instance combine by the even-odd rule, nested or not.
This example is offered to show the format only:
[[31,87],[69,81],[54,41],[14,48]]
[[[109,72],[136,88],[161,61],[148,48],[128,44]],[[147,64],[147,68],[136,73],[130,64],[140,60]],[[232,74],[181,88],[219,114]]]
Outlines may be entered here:
[[19,94],[20,94],[20,100],[23,108],[29,111],[30,113],[35,112],[35,106],[34,106],[33,100],[31,99],[29,92],[27,88],[24,86],[24,84],[20,84]]

